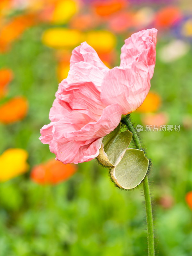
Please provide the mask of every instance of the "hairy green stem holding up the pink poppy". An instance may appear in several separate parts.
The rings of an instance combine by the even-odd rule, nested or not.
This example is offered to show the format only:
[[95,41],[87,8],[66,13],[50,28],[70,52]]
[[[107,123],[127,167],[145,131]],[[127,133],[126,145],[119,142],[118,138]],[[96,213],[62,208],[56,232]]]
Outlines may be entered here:
[[[128,130],[132,132],[133,134],[133,141],[135,143],[135,147],[137,149],[142,150],[140,140],[137,136],[137,132],[135,131],[135,128],[133,127],[129,116],[125,116],[122,120],[122,123],[124,123]],[[151,207],[151,197],[150,197],[150,190],[149,190],[149,183],[148,183],[148,177],[145,176],[143,180],[143,190],[144,190],[144,196],[145,196],[145,207],[146,207],[146,215],[147,215],[147,230],[148,230],[148,256],[154,256],[155,255],[155,248],[154,248],[154,232],[153,232],[153,215],[152,215],[152,207]]]

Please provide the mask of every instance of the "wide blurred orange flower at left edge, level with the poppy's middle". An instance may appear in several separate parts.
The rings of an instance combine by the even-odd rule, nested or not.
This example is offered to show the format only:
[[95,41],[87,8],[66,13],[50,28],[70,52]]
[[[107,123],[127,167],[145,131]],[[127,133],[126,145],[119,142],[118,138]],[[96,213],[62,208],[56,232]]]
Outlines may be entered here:
[[24,97],[15,97],[0,106],[0,122],[10,124],[22,120],[28,112],[28,102]]

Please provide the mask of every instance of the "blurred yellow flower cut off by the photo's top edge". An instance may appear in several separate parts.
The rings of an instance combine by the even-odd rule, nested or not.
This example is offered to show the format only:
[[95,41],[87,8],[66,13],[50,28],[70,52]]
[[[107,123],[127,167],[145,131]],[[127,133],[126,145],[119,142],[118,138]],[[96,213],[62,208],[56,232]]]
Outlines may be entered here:
[[55,4],[54,11],[52,13],[52,23],[63,24],[78,11],[78,5],[73,0],[60,0]]

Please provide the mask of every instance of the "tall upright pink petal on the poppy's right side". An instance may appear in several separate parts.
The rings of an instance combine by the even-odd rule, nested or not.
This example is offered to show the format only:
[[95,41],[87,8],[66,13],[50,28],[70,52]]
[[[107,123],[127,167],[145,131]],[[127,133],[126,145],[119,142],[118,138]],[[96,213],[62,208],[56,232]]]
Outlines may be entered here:
[[118,103],[123,114],[140,107],[150,89],[156,57],[156,29],[142,30],[125,40],[121,65],[108,71],[101,86],[104,104]]

